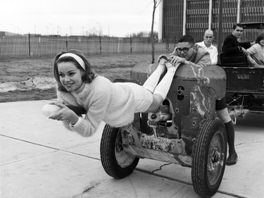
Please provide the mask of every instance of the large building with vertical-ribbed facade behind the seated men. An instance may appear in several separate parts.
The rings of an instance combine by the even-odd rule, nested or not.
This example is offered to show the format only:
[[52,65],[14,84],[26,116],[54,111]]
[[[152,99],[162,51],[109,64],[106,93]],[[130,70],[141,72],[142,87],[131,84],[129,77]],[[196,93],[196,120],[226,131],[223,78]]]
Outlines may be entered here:
[[[211,29],[216,42],[219,6],[220,0],[161,1],[159,38],[175,43],[182,35],[191,35],[199,42],[203,32]],[[222,37],[231,34],[235,23],[264,22],[263,13],[263,0],[222,0]],[[245,30],[241,41],[255,39],[260,31],[263,30]]]

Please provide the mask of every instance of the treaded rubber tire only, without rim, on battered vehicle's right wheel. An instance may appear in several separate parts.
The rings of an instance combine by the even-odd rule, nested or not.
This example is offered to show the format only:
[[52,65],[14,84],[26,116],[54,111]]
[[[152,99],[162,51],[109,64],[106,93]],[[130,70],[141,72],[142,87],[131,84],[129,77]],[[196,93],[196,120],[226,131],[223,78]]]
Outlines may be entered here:
[[[208,176],[208,153],[210,148],[210,142],[214,135],[220,136],[221,140],[221,153],[222,156],[222,168],[216,171],[218,177],[213,181],[213,185],[210,184]],[[219,118],[214,120],[203,120],[200,124],[199,135],[194,145],[191,161],[191,180],[193,183],[194,191],[201,197],[212,197],[215,192],[218,191],[220,183],[222,182],[222,176],[225,172],[225,161],[227,158],[227,134],[225,125]],[[221,166],[220,166],[221,167]]]

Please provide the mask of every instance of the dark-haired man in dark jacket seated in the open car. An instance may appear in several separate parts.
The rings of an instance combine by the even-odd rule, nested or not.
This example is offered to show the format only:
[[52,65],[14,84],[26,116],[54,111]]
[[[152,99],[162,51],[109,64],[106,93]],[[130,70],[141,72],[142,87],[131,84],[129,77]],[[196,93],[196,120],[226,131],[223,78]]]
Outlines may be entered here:
[[232,35],[227,36],[222,44],[222,52],[225,55],[241,56],[247,54],[246,49],[251,47],[254,42],[238,42],[242,34],[243,26],[241,24],[234,25]]

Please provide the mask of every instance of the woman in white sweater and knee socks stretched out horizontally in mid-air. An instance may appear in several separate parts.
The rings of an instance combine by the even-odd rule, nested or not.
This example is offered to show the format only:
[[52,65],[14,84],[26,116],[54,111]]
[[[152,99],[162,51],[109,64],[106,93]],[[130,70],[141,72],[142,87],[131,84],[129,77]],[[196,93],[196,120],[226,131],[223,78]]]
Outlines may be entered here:
[[[49,118],[62,120],[69,130],[82,136],[93,135],[101,121],[121,127],[134,120],[134,113],[158,109],[170,89],[177,70],[164,58],[143,86],[132,82],[111,82],[95,75],[81,51],[62,52],[54,59],[54,76],[58,83],[58,102],[61,109]],[[160,83],[161,74],[167,69]],[[66,105],[82,106],[85,118],[77,116]]]

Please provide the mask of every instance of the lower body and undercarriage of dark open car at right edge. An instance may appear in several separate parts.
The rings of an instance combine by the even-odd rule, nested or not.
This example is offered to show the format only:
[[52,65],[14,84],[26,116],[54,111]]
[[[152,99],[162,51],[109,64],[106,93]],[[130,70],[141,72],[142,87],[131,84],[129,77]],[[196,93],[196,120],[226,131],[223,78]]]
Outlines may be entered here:
[[226,101],[229,108],[264,113],[264,68],[224,67],[224,70],[227,74]]

